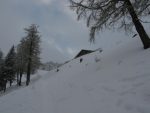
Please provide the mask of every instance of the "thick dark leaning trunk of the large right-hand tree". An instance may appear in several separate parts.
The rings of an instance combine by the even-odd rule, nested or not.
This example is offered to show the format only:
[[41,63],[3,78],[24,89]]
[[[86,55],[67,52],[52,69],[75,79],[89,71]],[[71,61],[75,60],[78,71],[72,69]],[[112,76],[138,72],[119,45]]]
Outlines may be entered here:
[[132,21],[135,25],[136,31],[138,32],[140,39],[143,43],[144,49],[147,49],[150,47],[150,39],[149,36],[147,35],[143,25],[141,24],[141,22],[138,19],[137,14],[135,13],[135,10],[130,2],[130,0],[125,0],[125,3],[127,5],[127,9],[132,17]]

